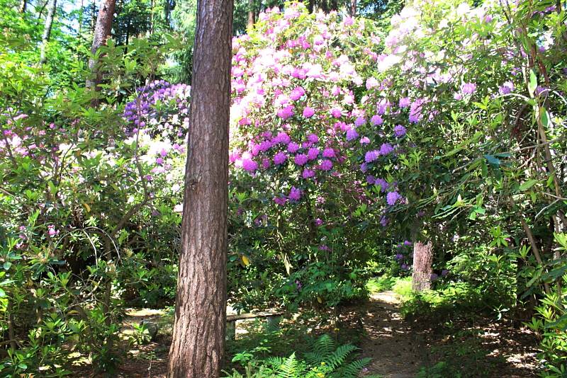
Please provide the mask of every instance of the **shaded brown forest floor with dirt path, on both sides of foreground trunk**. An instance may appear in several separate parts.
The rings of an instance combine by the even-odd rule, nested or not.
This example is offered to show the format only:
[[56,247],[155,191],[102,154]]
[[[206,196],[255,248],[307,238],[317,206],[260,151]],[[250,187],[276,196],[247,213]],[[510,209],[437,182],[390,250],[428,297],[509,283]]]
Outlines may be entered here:
[[[344,307],[339,323],[318,326],[303,320],[297,326],[313,333],[339,332],[339,340],[353,340],[361,357],[371,363],[361,377],[377,374],[384,378],[410,377],[537,377],[537,340],[526,328],[513,328],[509,322],[496,322],[482,317],[467,321],[454,320],[443,324],[432,321],[404,320],[400,299],[391,291],[371,295],[364,304]],[[124,320],[122,364],[116,377],[164,378],[167,353],[172,333],[171,312],[137,309],[128,311]],[[132,346],[127,340],[134,333],[133,324],[152,321],[159,325],[155,340],[147,345]],[[297,320],[300,322],[299,320]],[[295,326],[293,321],[285,326]],[[237,340],[246,333],[258,331],[259,323],[237,322]],[[340,331],[339,331],[340,329]],[[281,340],[285,343],[285,340]],[[293,345],[281,345],[293,350]],[[289,354],[288,353],[288,354]],[[99,377],[89,374],[88,367],[74,374],[77,377]],[[77,375],[77,373],[79,373]]]

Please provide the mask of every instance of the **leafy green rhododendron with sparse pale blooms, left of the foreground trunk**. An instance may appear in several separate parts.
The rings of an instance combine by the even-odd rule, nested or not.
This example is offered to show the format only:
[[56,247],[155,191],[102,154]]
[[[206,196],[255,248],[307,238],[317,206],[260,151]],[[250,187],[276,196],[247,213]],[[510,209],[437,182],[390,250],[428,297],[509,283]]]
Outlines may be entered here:
[[[0,331],[12,350],[0,372],[65,374],[71,339],[94,368],[112,372],[123,304],[174,299],[183,170],[172,167],[184,166],[184,147],[172,137],[184,144],[184,134],[167,122],[181,124],[188,89],[150,84],[157,94],[144,88],[140,108],[128,105],[130,123],[120,106],[85,107],[81,88],[38,109],[46,82],[0,68],[15,71],[0,84],[13,88],[0,108]],[[164,132],[134,131],[136,122]]]

